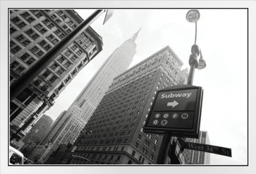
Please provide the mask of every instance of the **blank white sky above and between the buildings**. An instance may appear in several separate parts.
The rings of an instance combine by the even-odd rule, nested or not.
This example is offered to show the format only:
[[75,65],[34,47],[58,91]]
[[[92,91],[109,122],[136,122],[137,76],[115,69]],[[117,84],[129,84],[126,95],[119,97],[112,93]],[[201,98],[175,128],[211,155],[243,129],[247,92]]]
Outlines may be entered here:
[[[75,9],[86,19],[94,9]],[[137,52],[131,66],[169,45],[189,68],[195,41],[195,23],[186,20],[189,9],[115,9],[102,25],[105,14],[91,27],[102,36],[103,50],[83,68],[45,112],[56,119],[67,110],[102,63],[140,28]],[[232,157],[211,154],[211,165],[247,164],[247,11],[199,9],[197,45],[206,68],[195,70],[193,85],[203,87],[200,130],[207,131],[213,146],[232,149]]]

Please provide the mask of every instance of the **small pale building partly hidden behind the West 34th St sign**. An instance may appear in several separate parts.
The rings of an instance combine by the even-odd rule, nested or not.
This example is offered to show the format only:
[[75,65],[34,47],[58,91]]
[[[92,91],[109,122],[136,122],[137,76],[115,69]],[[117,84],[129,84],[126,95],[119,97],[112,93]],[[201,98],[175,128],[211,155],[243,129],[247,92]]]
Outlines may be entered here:
[[[208,133],[200,131],[199,138],[186,138],[187,142],[210,144]],[[185,149],[184,152],[185,164],[189,165],[208,165],[210,164],[210,153],[204,151],[194,151]]]

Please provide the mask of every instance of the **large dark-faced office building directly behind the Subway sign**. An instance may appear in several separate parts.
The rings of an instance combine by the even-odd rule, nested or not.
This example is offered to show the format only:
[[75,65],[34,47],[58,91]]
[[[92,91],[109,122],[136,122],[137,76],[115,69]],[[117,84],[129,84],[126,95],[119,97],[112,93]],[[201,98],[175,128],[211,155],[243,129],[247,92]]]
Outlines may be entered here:
[[182,65],[167,46],[117,76],[75,141],[70,163],[154,164],[162,137],[143,133],[143,126],[157,90],[186,81]]

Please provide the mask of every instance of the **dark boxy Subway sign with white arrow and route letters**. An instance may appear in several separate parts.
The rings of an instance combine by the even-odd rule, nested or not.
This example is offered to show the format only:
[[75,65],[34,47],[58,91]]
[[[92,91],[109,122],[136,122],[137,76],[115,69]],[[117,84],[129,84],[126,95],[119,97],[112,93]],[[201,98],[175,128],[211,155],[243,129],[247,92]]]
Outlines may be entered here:
[[143,131],[198,138],[202,100],[202,88],[193,85],[159,90]]

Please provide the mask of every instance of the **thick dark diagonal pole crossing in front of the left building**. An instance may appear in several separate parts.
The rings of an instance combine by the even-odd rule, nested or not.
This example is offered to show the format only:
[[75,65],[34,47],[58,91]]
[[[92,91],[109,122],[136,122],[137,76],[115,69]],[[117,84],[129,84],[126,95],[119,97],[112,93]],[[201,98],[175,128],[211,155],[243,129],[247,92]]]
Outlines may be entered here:
[[80,23],[77,28],[75,28],[69,35],[64,37],[55,47],[53,47],[49,52],[47,52],[42,58],[40,58],[34,66],[31,66],[26,73],[24,73],[20,78],[14,82],[10,87],[10,100],[13,100],[17,95],[20,94],[31,82],[40,74],[42,71],[49,66],[51,62],[61,53],[64,49],[72,43],[72,41],[80,35],[86,28],[91,25],[94,20],[99,17],[105,9],[96,10],[91,16],[86,20],[83,20],[83,23]]

